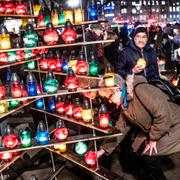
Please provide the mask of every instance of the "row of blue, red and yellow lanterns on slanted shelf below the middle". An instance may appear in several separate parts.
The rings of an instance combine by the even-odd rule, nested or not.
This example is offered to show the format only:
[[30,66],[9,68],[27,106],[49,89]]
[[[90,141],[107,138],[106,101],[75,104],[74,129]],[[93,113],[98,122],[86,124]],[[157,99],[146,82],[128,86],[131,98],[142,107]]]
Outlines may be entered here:
[[[36,108],[45,109],[44,100],[38,99],[35,102]],[[67,117],[74,118],[75,120],[83,120],[84,123],[92,123],[94,119],[94,111],[91,109],[89,101],[84,99],[81,103],[79,98],[72,101],[71,95],[68,95],[64,100],[61,96],[54,98],[49,97],[47,109],[59,115],[66,115]],[[105,104],[101,104],[98,110],[98,124],[100,128],[108,128],[110,126],[110,117]]]

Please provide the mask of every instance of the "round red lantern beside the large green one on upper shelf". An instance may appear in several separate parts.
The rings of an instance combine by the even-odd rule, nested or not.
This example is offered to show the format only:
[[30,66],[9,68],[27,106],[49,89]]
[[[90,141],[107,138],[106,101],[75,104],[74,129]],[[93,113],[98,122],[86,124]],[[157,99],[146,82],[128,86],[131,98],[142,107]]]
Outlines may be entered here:
[[43,35],[44,42],[47,45],[56,45],[59,40],[59,35],[56,30],[53,29],[52,23],[47,24],[47,29]]

